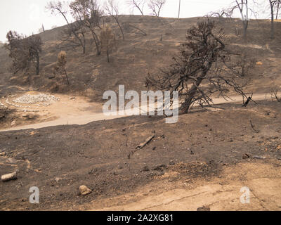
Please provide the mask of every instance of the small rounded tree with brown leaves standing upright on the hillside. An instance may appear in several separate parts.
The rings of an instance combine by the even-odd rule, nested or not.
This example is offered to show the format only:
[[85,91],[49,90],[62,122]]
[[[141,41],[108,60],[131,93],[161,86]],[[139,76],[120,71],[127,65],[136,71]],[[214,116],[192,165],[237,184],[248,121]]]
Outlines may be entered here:
[[112,53],[113,49],[116,47],[116,40],[115,35],[109,26],[106,26],[101,30],[100,41],[102,48],[107,53],[107,62],[110,63],[110,53]]

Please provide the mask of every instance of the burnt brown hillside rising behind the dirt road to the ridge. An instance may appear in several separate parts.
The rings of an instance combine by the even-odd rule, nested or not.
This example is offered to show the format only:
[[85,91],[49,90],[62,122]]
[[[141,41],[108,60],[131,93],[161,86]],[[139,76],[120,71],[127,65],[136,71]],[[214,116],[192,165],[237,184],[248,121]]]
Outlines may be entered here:
[[[161,18],[159,20],[151,16],[143,18],[138,15],[121,16],[122,23],[130,22],[143,29],[147,35],[143,36],[131,28],[126,30],[123,41],[117,25],[110,22],[119,38],[117,53],[112,54],[112,63],[107,63],[105,53],[96,56],[94,45],[91,45],[89,40],[85,55],[81,53],[81,49],[64,49],[67,51],[70,86],[65,85],[65,80],[48,79],[52,75],[52,68],[60,51],[58,44],[65,27],[48,30],[40,34],[44,40],[44,51],[41,54],[41,73],[38,77],[32,72],[30,75],[11,75],[7,70],[8,56],[4,49],[0,49],[0,85],[2,85],[0,94],[7,92],[6,84],[32,85],[45,91],[79,92],[92,96],[96,101],[101,101],[101,95],[105,90],[116,91],[119,84],[125,84],[126,89],[143,90],[147,73],[155,73],[158,68],[169,65],[171,57],[177,53],[179,44],[185,41],[186,30],[204,19]],[[241,35],[235,34],[235,27],[241,32],[241,25],[241,21],[237,19],[218,21],[218,26],[223,27],[228,34],[230,49],[242,51],[263,63],[251,75],[254,81],[249,85],[249,91],[265,93],[270,89],[273,80],[276,79],[277,84],[280,84],[278,79],[280,69],[277,65],[280,60],[281,23],[275,25],[277,34],[273,41],[269,37],[268,20],[251,21],[246,40],[242,40]],[[162,41],[160,41],[161,35]]]

